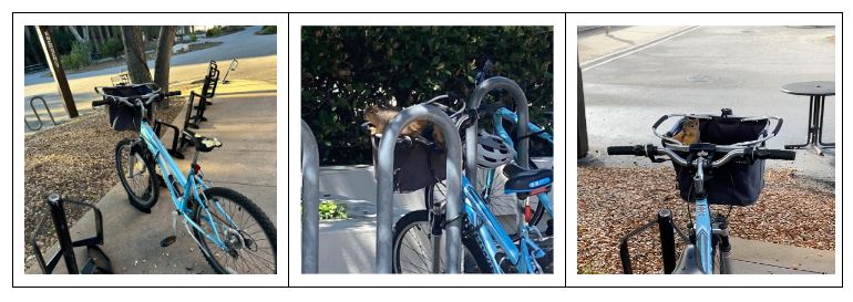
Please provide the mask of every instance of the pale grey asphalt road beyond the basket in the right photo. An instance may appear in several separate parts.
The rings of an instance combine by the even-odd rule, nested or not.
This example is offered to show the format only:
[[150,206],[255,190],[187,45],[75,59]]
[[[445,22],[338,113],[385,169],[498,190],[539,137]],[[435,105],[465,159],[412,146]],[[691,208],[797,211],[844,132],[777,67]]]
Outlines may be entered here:
[[[719,113],[723,107],[737,115],[784,118],[769,147],[803,143],[809,98],[779,88],[793,82],[834,81],[834,34],[833,28],[701,27],[586,70],[590,149],[604,153],[610,145],[657,143],[651,124],[658,117]],[[825,111],[824,140],[834,142],[835,97],[828,98]],[[801,152],[798,162],[798,169],[834,175],[833,150],[824,157]]]

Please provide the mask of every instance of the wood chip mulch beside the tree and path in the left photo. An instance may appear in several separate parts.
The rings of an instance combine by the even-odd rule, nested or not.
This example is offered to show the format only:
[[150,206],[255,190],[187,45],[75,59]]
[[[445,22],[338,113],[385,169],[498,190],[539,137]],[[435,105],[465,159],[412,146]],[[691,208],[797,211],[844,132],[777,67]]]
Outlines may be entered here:
[[[156,118],[172,122],[184,97],[173,97],[168,106],[156,111]],[[107,124],[104,110],[95,110],[24,138],[24,231],[25,262],[32,264],[30,238],[40,219],[49,214],[48,195],[96,204],[119,184],[115,171],[115,143],[132,137],[133,132],[115,132]],[[66,206],[73,226],[88,208]],[[50,218],[48,218],[50,219]],[[45,222],[47,235],[37,242],[44,249],[56,242],[53,226]]]

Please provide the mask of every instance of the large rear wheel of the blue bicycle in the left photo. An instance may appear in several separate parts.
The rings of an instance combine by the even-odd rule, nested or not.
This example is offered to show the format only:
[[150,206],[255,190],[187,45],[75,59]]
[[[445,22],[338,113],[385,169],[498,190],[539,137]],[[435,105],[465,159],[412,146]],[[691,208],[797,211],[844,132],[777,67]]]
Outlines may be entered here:
[[[194,221],[203,231],[193,232],[214,271],[276,273],[276,227],[264,211],[232,189],[209,188],[204,196],[204,208],[193,202]],[[219,242],[207,238],[208,235]]]

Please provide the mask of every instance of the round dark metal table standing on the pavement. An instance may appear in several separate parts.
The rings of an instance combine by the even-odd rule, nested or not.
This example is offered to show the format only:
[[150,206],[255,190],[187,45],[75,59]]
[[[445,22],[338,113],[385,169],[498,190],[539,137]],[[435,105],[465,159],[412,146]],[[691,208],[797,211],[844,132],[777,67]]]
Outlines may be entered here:
[[782,86],[782,92],[809,96],[809,131],[805,144],[785,145],[785,149],[813,148],[819,155],[823,155],[824,148],[834,148],[835,143],[823,143],[823,112],[826,96],[835,95],[835,82],[791,83]]

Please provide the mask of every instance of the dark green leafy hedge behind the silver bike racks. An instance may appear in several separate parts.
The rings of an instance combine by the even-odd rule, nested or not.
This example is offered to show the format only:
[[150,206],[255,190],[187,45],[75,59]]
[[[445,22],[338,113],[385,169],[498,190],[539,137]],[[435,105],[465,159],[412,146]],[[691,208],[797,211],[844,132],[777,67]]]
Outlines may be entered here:
[[371,163],[370,144],[359,128],[364,107],[394,100],[401,108],[448,92],[466,97],[484,58],[494,62],[496,75],[521,85],[532,104],[531,119],[552,128],[544,114],[552,111],[554,95],[551,27],[301,31],[301,116],[317,137],[323,165]]

